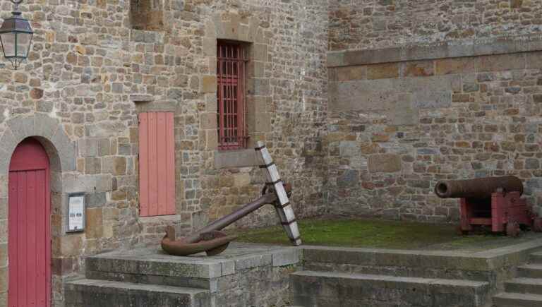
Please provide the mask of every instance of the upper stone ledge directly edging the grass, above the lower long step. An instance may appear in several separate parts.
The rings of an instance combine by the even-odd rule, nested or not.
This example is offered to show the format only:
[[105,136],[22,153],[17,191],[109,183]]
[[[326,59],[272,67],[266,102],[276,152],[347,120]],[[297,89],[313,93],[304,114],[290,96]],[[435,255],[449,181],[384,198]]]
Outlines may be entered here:
[[[530,247],[530,246],[529,246]],[[530,251],[407,251],[380,248],[304,246],[304,269],[401,277],[467,279],[490,282],[495,287],[495,267],[524,263]],[[529,252],[529,253],[528,253]],[[513,253],[513,257],[510,254]],[[525,253],[524,257],[517,254]]]

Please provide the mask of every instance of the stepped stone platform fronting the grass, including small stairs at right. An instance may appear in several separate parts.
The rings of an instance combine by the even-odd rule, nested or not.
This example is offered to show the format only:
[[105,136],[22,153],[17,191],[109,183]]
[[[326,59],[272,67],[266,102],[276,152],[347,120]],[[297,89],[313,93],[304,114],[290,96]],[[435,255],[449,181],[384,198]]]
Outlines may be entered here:
[[478,252],[304,246],[303,271],[290,276],[291,303],[542,306],[541,248],[542,239]]

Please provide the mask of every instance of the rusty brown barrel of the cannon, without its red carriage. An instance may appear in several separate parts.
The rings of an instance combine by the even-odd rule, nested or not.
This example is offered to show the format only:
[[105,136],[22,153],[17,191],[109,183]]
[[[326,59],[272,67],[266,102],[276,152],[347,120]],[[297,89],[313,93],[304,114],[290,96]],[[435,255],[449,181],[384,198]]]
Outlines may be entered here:
[[435,194],[440,198],[490,198],[499,189],[523,194],[523,183],[516,176],[441,180],[435,185]]

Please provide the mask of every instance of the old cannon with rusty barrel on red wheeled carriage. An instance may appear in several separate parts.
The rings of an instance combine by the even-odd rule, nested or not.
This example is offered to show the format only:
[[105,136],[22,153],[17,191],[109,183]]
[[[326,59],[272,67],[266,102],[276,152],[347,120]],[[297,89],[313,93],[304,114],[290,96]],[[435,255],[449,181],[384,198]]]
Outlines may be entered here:
[[542,220],[521,197],[523,183],[516,176],[442,180],[435,185],[435,194],[440,198],[459,198],[461,234],[480,225],[508,236],[518,236],[520,226],[542,231]]

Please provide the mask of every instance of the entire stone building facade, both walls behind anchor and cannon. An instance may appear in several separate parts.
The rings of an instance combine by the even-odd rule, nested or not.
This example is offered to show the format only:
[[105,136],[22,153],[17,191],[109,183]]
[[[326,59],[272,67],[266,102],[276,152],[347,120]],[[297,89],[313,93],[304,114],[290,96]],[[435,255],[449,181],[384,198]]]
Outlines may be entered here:
[[[1,18],[10,1],[0,0]],[[0,306],[8,167],[51,163],[53,301],[85,255],[180,233],[255,198],[258,140],[296,215],[457,219],[438,179],[516,174],[540,203],[542,4],[534,0],[27,0],[27,63],[0,62]],[[248,149],[217,149],[217,40],[248,49]],[[175,215],[140,217],[138,114],[174,112]],[[66,234],[69,193],[86,230]],[[276,223],[260,210],[237,226]]]

